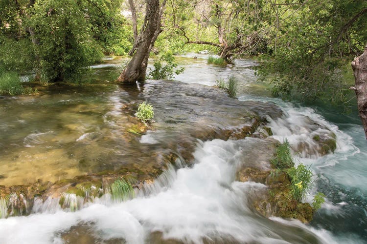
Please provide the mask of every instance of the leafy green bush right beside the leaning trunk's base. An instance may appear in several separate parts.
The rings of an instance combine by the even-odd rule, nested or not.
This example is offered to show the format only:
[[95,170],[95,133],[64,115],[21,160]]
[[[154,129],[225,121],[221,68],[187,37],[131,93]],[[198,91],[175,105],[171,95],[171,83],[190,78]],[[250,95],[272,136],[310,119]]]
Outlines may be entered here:
[[148,69],[148,79],[152,80],[172,79],[174,77],[173,74],[179,75],[184,72],[184,68],[177,68],[178,63],[170,51],[157,57],[153,66],[154,69]]

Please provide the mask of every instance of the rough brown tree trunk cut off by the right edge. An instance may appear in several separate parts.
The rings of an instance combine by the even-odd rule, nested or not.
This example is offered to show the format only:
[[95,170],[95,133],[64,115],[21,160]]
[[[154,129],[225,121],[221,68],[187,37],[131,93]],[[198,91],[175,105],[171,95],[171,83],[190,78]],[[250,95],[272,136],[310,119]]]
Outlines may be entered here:
[[359,116],[367,139],[367,44],[363,54],[352,61],[355,85],[350,89],[356,92]]

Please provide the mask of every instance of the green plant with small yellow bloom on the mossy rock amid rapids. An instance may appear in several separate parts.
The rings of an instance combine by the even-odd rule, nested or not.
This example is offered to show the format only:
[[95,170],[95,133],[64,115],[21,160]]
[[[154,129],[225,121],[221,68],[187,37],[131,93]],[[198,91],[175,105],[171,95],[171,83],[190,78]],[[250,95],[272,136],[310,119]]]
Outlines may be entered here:
[[306,197],[312,184],[312,172],[309,166],[302,163],[297,168],[292,167],[288,169],[288,176],[291,178],[291,194],[298,202]]

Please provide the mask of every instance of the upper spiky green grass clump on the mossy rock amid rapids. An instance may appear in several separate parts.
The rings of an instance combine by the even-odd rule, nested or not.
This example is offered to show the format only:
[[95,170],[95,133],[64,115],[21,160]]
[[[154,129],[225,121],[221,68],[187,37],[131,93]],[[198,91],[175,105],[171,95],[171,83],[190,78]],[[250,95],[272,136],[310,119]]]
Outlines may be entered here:
[[293,156],[291,154],[291,145],[287,139],[283,141],[275,151],[275,158],[271,159],[270,162],[275,168],[285,169],[294,166]]

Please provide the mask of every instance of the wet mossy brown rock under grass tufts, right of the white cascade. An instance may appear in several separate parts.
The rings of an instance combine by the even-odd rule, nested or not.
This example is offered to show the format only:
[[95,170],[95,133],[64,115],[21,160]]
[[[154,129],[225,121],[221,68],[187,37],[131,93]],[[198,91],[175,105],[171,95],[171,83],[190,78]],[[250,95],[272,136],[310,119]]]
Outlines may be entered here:
[[270,176],[273,170],[270,160],[275,153],[275,144],[279,142],[271,138],[257,140],[256,149],[243,155],[246,163],[242,163],[236,173],[237,181],[253,181],[268,186],[268,191],[259,192],[259,195],[253,197],[254,208],[265,217],[277,216],[310,222],[313,209],[309,203],[299,203],[292,198],[288,176],[284,172],[277,177]]

